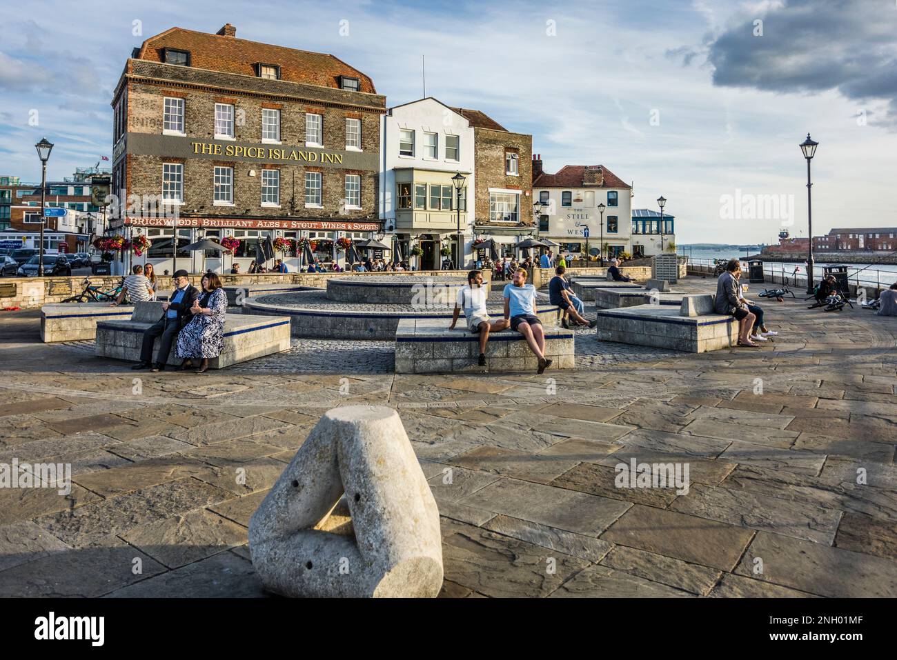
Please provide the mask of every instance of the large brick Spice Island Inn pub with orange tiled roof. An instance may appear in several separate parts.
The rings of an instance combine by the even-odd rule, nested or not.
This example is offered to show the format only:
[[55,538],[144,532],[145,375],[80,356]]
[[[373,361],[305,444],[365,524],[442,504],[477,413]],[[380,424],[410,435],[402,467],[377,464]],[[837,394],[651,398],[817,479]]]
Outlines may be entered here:
[[[379,120],[386,98],[365,74],[333,55],[171,28],[127,59],[116,87],[112,192],[161,195],[164,210],[115,213],[108,234],[150,240],[132,263],[193,272],[248,272],[257,242],[317,243],[335,258],[340,238],[382,238],[377,213]],[[177,213],[171,213],[177,211]],[[177,224],[177,228],[173,225]],[[239,239],[233,256],[187,252],[200,239]],[[276,254],[292,272],[300,256]],[[272,263],[268,263],[272,265]]]

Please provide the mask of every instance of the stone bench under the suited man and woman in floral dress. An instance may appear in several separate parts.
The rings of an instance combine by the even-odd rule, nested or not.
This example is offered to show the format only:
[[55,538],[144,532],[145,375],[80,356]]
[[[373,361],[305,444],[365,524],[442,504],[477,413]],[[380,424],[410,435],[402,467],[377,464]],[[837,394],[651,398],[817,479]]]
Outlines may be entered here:
[[[144,330],[162,316],[161,302],[138,302],[128,320],[101,321],[97,324],[96,348],[98,357],[116,360],[140,360]],[[217,358],[209,360],[210,369],[223,369],[290,348],[289,317],[260,317],[248,314],[228,314],[224,320],[224,349]],[[158,340],[153,347],[153,359]],[[172,344],[166,364],[180,364]]]

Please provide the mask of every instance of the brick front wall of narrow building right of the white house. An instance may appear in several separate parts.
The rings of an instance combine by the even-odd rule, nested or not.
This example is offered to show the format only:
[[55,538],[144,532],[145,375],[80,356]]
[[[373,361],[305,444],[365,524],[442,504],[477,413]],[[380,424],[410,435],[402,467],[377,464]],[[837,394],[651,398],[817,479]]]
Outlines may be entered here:
[[[519,221],[533,224],[533,136],[476,128],[474,131],[476,172],[476,224],[489,223],[489,188],[520,191]],[[506,173],[506,152],[518,154],[518,176]]]

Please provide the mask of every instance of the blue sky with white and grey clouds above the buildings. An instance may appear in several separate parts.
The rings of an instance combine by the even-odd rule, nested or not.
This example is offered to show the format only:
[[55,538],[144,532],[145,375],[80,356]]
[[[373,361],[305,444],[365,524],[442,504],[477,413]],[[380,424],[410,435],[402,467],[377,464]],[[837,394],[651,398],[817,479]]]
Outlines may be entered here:
[[[664,195],[679,243],[772,242],[783,224],[806,236],[807,132],[814,234],[897,226],[895,0],[58,0],[7,4],[4,19],[0,173],[24,180],[39,180],[45,135],[50,178],[111,156],[131,48],[231,22],[341,57],[390,106],[422,96],[426,56],[428,95],[532,134],[546,171],[601,163],[633,183],[634,208]],[[778,215],[728,213],[759,195],[783,195]]]

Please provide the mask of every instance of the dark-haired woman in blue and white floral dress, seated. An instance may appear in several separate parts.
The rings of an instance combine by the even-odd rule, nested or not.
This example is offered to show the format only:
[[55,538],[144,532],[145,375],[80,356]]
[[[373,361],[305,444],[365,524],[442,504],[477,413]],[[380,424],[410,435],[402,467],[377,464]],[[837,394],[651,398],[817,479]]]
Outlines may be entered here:
[[224,348],[224,314],[227,294],[217,274],[206,273],[202,279],[203,294],[190,312],[193,318],[178,334],[178,357],[184,358],[181,369],[193,369],[191,359],[202,358],[197,374],[209,368],[209,358],[217,358]]

